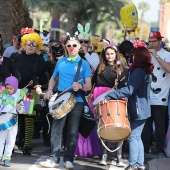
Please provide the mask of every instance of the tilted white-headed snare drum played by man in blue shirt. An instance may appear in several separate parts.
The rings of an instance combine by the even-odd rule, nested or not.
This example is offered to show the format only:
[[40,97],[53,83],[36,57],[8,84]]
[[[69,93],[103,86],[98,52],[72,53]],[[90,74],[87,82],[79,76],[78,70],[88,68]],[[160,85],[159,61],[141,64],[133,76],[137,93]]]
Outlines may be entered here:
[[57,97],[57,93],[49,101],[49,112],[54,119],[61,119],[68,114],[76,104],[76,98],[71,92],[65,92]]

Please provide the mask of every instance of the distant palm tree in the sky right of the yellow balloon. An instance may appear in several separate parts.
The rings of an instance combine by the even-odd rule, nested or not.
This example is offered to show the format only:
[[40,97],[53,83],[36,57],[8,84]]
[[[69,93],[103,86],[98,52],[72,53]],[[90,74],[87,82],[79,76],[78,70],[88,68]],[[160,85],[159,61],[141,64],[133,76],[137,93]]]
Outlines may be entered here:
[[142,11],[141,14],[141,22],[140,22],[140,39],[143,39],[143,20],[144,20],[144,14],[146,11],[148,11],[150,8],[149,4],[146,2],[141,2],[138,6],[138,9]]

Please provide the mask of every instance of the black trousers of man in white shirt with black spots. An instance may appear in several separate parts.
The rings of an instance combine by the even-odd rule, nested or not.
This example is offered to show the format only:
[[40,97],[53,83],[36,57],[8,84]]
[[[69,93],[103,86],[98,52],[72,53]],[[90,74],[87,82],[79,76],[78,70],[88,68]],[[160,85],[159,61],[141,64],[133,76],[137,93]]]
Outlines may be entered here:
[[164,152],[165,146],[165,117],[167,114],[167,106],[152,105],[151,117],[147,118],[143,132],[142,140],[144,144],[144,150],[149,153],[150,144],[152,140],[152,123],[155,123],[156,129],[156,145],[157,152]]

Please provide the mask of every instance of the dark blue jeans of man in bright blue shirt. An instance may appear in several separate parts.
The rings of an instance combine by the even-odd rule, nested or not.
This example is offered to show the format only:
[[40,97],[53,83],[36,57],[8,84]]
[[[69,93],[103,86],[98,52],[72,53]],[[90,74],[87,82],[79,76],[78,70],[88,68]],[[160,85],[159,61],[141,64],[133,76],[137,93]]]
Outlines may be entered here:
[[84,103],[77,102],[74,108],[61,119],[53,119],[51,127],[51,150],[50,159],[56,163],[60,161],[60,149],[63,136],[63,128],[67,118],[67,143],[64,152],[64,162],[74,160],[74,151],[78,139],[78,128],[81,114],[83,113]]

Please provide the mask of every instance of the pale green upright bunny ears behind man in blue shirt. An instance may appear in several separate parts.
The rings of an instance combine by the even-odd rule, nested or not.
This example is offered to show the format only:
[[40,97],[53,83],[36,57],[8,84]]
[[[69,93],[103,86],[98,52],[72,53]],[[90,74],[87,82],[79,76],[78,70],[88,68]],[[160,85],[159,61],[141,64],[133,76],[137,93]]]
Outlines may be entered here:
[[85,25],[85,29],[83,28],[83,26],[80,23],[78,23],[77,29],[80,32],[80,34],[78,36],[79,40],[89,40],[89,38],[90,38],[90,36],[88,34],[89,31],[90,31],[90,24],[89,23],[87,23]]

